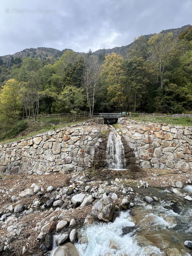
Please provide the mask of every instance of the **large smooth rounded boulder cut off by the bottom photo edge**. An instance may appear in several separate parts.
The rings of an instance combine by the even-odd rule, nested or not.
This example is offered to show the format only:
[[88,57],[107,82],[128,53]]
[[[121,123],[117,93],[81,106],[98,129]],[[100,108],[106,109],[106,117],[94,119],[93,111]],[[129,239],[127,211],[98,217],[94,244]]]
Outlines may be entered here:
[[79,252],[72,243],[66,243],[59,246],[53,253],[53,256],[79,256]]

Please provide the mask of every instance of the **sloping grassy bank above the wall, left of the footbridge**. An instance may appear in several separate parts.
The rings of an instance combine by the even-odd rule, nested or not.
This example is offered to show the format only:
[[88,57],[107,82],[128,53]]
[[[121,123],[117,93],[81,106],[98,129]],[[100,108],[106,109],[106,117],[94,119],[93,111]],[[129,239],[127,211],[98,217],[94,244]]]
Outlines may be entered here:
[[78,124],[88,120],[87,117],[80,117],[76,119],[76,122],[73,122],[72,118],[63,117],[63,118],[39,118],[38,123],[33,120],[21,120],[16,124],[8,127],[0,127],[0,144],[6,142],[12,142],[15,140],[21,140],[38,133],[46,132],[48,130],[58,130],[63,126],[70,126],[72,124]]

